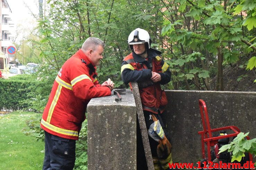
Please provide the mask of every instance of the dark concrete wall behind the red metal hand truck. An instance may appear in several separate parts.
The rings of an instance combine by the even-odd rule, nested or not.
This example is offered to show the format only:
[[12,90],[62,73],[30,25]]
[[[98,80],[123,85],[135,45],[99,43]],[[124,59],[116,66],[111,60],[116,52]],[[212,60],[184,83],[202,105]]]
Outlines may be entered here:
[[[173,160],[196,162],[201,159],[202,121],[198,100],[208,109],[211,128],[237,126],[256,138],[256,92],[167,90],[168,106],[162,115],[173,144]],[[217,134],[216,134],[217,135]]]

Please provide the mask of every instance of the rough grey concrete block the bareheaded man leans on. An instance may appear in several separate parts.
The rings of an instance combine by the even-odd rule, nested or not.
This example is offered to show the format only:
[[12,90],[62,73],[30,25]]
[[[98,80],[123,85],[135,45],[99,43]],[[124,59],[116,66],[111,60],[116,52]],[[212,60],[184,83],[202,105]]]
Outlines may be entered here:
[[131,91],[92,99],[88,106],[88,169],[136,169],[136,106]]

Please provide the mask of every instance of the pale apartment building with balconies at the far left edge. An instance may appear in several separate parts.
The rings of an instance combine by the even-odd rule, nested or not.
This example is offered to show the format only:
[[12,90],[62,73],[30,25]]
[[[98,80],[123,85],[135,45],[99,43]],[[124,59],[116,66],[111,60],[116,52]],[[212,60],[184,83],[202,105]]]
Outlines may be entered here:
[[9,56],[8,61],[5,59],[5,54],[7,54],[7,47],[12,45],[14,24],[11,19],[11,8],[7,0],[0,0],[0,70],[3,69],[6,62],[10,62],[13,57]]

